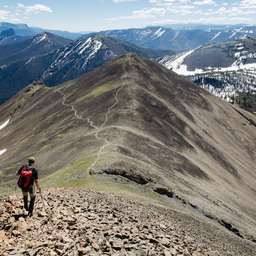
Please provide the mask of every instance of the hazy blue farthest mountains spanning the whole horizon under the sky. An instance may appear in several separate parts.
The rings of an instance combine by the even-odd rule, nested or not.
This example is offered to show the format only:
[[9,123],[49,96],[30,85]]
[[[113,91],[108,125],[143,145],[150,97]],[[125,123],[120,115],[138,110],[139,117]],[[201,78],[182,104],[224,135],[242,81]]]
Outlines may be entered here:
[[[15,31],[17,36],[35,36],[46,31],[72,40],[95,34],[95,32],[84,34],[70,33],[68,31],[28,27],[27,24],[0,22],[0,32],[10,28]],[[147,28],[106,30],[98,33],[129,41],[142,47],[170,49],[177,52],[183,52],[209,42],[228,42],[236,39],[244,39],[248,36],[256,36],[256,27],[248,24],[215,25],[189,23],[152,26]],[[22,40],[22,38],[19,38],[19,40]],[[10,40],[10,43],[13,42],[14,39]],[[9,41],[5,40],[4,43],[9,43]]]

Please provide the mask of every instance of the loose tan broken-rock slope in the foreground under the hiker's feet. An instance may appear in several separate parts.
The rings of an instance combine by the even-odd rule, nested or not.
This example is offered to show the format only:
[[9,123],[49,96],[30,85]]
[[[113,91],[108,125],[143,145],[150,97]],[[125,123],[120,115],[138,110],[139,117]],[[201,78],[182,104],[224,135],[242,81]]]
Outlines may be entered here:
[[[7,255],[255,255],[256,245],[205,220],[139,197],[44,189],[26,217],[21,193],[0,197],[0,253]],[[37,237],[37,239],[35,239]]]

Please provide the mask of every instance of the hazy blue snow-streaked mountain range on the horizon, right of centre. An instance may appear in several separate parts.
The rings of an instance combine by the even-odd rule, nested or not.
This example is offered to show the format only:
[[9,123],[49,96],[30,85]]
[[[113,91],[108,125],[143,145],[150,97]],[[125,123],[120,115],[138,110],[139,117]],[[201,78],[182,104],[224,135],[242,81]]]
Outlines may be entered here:
[[[229,42],[256,36],[256,27],[247,26],[225,30],[173,30],[166,27],[130,28],[100,31],[99,34],[113,36],[133,44],[152,49],[171,49],[183,52],[209,42]],[[89,36],[82,35],[81,37]]]

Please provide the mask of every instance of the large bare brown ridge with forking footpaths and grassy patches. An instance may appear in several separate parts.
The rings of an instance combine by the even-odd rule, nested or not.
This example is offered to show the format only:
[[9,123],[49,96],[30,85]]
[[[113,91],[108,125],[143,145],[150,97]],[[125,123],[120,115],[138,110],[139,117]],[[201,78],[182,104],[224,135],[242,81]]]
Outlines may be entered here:
[[254,115],[134,53],[26,89],[0,107],[2,193],[33,155],[44,187],[167,200],[255,240]]

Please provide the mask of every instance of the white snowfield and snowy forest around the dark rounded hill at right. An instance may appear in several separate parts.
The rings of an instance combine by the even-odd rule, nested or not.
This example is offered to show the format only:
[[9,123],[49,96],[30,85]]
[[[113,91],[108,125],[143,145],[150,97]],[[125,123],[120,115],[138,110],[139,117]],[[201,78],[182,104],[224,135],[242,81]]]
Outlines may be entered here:
[[[201,47],[201,46],[200,46]],[[197,47],[196,49],[200,48]],[[208,48],[208,47],[203,47]],[[244,44],[236,44],[234,50],[244,50]],[[236,92],[252,92],[256,93],[256,63],[250,63],[248,59],[256,59],[256,52],[235,52],[234,62],[230,67],[205,67],[204,69],[196,68],[195,71],[188,71],[184,59],[192,54],[196,49],[178,53],[176,55],[166,55],[156,60],[159,64],[166,68],[172,69],[179,75],[188,76],[188,80],[195,82],[205,90],[212,92],[219,98],[231,101]],[[207,69],[207,71],[205,71]],[[219,81],[222,84],[220,88],[206,81]],[[214,83],[214,82],[213,82]]]

